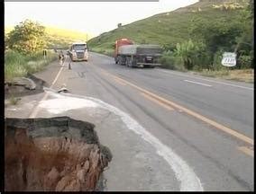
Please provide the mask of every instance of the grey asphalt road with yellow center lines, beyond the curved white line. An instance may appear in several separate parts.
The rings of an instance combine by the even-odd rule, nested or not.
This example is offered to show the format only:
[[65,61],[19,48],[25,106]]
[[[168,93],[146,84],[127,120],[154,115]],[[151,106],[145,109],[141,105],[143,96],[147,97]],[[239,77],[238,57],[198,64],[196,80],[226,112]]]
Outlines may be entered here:
[[[73,62],[71,67],[72,74],[59,76],[56,89],[65,83],[70,93],[100,99],[128,113],[151,133],[151,140],[145,140],[155,143],[156,137],[167,146],[156,143],[156,148],[165,149],[162,153],[171,148],[193,169],[203,190],[254,190],[253,84],[158,68],[127,68],[96,53],[90,53],[88,62]],[[160,164],[161,172],[162,168]],[[184,177],[179,175],[174,177],[182,184]]]

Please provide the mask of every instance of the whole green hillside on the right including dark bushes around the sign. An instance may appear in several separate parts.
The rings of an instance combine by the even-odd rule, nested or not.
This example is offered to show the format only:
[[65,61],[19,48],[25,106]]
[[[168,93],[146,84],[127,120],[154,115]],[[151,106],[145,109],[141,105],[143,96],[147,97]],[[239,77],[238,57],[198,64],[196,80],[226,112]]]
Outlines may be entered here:
[[[237,3],[239,2],[239,3]],[[89,47],[112,55],[114,41],[160,44],[163,66],[178,70],[222,71],[224,51],[237,51],[235,68],[254,68],[252,50],[253,1],[207,1],[119,25],[88,41]],[[232,69],[232,68],[231,68]]]

